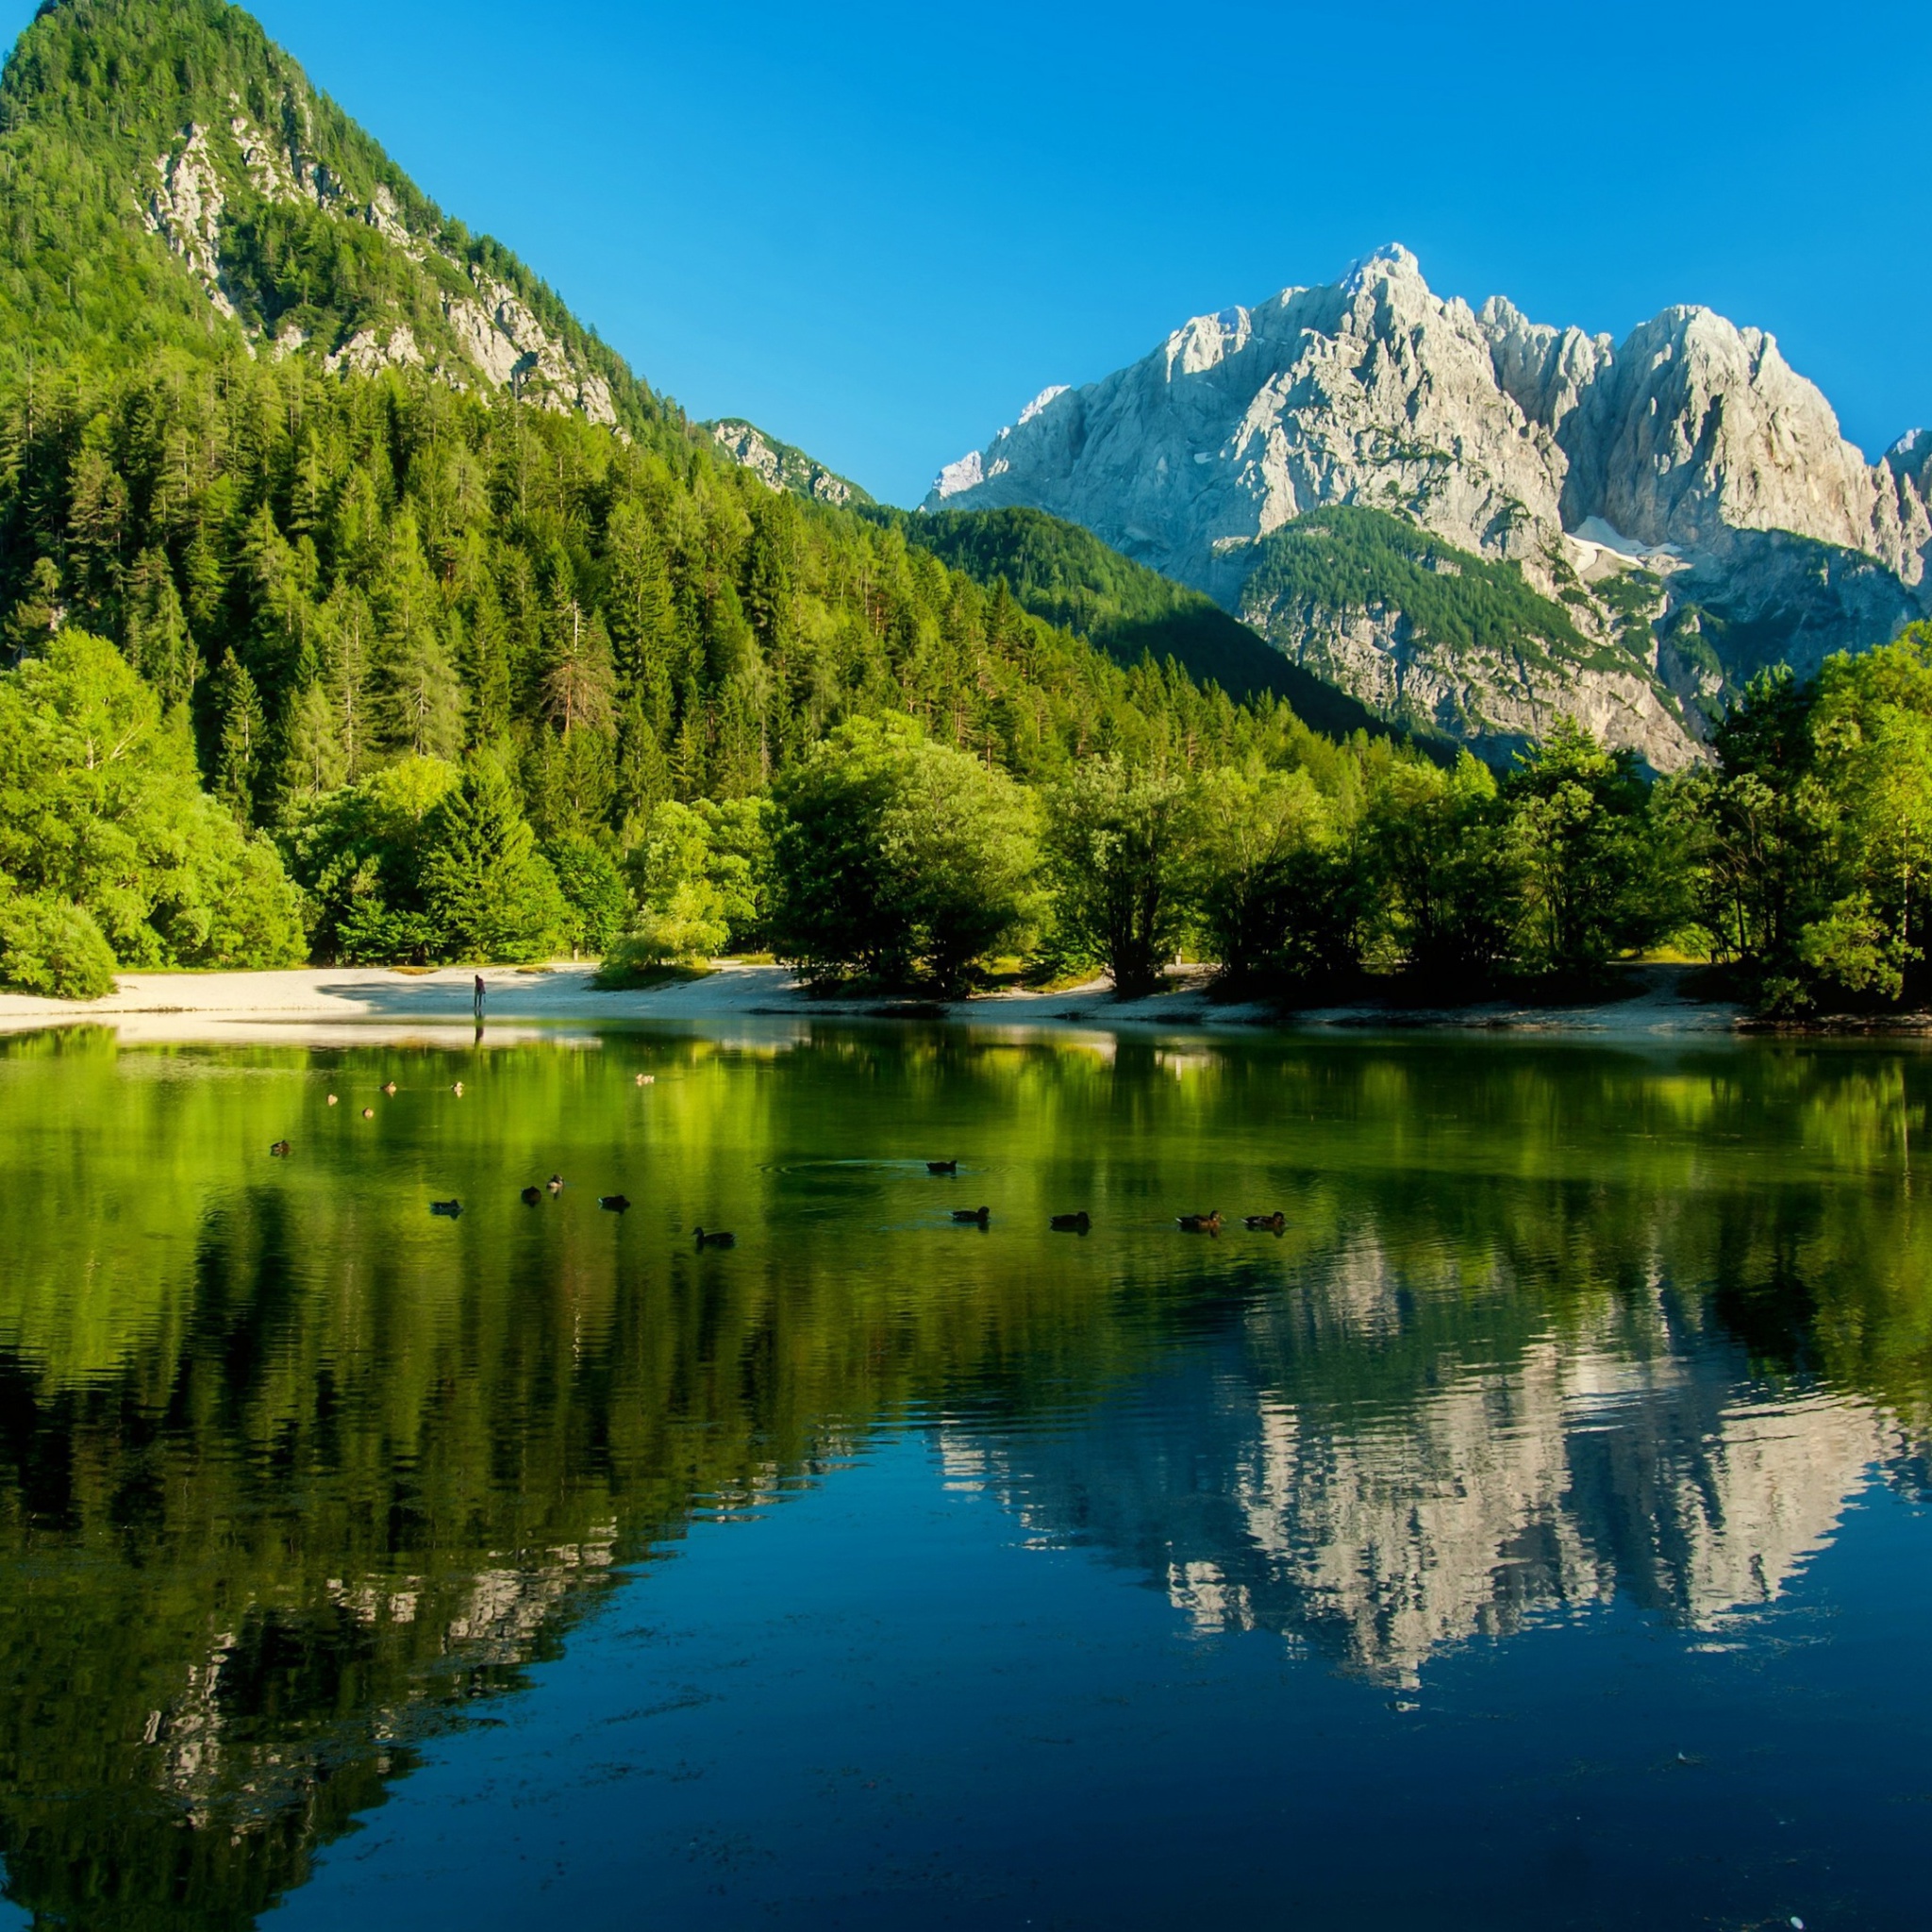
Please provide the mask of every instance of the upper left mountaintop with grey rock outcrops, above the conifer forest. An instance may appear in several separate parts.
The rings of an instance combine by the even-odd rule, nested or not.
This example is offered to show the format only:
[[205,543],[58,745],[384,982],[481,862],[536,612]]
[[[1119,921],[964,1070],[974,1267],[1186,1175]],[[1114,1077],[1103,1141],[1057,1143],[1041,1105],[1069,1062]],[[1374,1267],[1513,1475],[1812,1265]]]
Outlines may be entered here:
[[651,392],[222,0],[60,0],[0,77],[0,371],[425,367],[641,431]]

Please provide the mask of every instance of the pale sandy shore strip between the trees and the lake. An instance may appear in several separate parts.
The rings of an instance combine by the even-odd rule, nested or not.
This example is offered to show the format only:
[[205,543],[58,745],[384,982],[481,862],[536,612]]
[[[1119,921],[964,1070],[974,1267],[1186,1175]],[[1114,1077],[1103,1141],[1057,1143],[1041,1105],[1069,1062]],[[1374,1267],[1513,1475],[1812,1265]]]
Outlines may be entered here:
[[[1202,976],[1180,978],[1153,999],[1117,1001],[1103,980],[1055,993],[1001,991],[945,1005],[927,1001],[813,999],[782,966],[724,960],[703,980],[636,993],[601,993],[589,966],[485,970],[489,1037],[554,1037],[611,1022],[719,1022],[742,1018],[885,1018],[964,1020],[999,1028],[1072,1028],[1130,1034],[1151,1028],[1252,1032],[1256,1028],[1352,1032],[1445,1028],[1457,1032],[1577,1034],[1642,1039],[1683,1034],[1731,1034],[1739,1009],[1679,997],[1681,970],[1644,974],[1634,999],[1598,1007],[1453,1007],[1391,1012],[1379,1007],[1327,1007],[1283,1016],[1271,1007],[1213,1005]],[[108,999],[73,1003],[0,993],[0,1032],[46,1026],[106,1024],[126,1039],[323,1039],[386,1036],[448,1037],[469,1028],[468,966],[439,972],[392,972],[375,966],[303,968],[296,972],[126,974]]]

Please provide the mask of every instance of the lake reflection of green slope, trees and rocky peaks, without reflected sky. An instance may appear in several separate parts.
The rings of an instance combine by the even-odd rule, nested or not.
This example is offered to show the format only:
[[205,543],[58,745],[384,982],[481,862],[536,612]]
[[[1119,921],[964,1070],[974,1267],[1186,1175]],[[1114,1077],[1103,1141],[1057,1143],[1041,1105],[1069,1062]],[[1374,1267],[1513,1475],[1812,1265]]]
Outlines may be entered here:
[[[1177,1619],[1393,1685],[1617,1596],[1719,1629],[1922,1492],[1926,1092],[1770,1045],[6,1043],[8,1897],[251,1924],[694,1519],[908,1430]],[[1211,1206],[1287,1233],[1175,1233]]]

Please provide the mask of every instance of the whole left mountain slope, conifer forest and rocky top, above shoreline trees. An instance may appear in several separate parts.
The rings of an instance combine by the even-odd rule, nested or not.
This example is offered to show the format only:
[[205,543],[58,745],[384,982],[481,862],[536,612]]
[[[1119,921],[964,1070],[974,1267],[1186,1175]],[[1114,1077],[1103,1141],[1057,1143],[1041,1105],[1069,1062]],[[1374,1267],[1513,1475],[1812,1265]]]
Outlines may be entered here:
[[118,643],[363,929],[381,867],[328,808],[328,871],[315,815],[410,759],[489,750],[549,850],[622,856],[854,715],[1022,777],[1304,730],[732,460],[234,8],[44,12],[0,77],[0,645]]

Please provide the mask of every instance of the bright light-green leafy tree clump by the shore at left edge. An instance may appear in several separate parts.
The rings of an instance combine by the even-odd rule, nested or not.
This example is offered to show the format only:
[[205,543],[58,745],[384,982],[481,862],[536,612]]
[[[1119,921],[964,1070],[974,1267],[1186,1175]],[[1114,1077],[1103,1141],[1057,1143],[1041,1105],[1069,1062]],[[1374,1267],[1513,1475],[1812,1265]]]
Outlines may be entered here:
[[[155,692],[79,630],[0,672],[0,875],[81,908],[122,966],[301,956],[299,900],[274,852],[201,792]],[[89,956],[79,933],[75,960]]]

